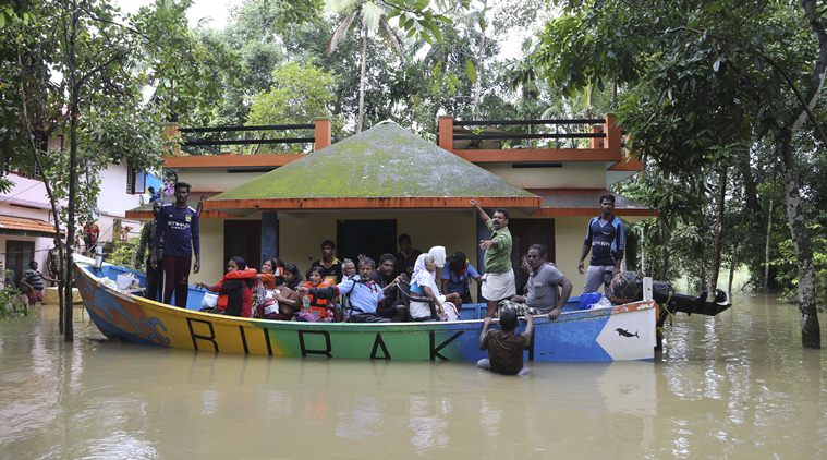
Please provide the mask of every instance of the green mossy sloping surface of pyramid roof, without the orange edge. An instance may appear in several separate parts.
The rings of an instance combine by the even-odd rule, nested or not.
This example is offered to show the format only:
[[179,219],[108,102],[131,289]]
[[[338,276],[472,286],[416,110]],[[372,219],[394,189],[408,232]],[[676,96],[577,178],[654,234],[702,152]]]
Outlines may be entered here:
[[381,123],[212,199],[440,196],[534,195],[396,123]]

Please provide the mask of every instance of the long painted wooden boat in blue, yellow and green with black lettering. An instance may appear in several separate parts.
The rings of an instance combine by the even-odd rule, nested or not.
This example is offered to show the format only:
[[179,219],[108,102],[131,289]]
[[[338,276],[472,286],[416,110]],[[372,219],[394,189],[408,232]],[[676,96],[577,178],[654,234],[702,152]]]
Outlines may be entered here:
[[[191,288],[187,308],[122,292],[118,275],[143,274],[105,265],[75,264],[84,305],[110,339],[207,352],[293,358],[470,361],[487,358],[478,347],[485,304],[463,305],[447,323],[302,323],[236,318],[198,312],[203,290]],[[557,320],[535,317],[527,361],[654,360],[658,306],[634,302],[575,310],[573,299]],[[524,323],[521,322],[521,328]]]

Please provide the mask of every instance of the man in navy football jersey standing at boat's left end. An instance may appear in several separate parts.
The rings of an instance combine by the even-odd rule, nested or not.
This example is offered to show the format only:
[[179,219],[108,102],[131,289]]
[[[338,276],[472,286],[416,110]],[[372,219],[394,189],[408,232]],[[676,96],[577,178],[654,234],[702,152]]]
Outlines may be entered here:
[[[190,197],[190,184],[175,184],[175,203],[161,206],[156,217],[153,247],[160,247],[163,237],[163,303],[169,304],[175,292],[175,306],[186,308],[190,283],[190,265],[193,253],[195,264],[193,273],[200,269],[200,239],[198,235],[198,213],[186,205]],[[153,251],[151,265],[158,265],[157,251]]]

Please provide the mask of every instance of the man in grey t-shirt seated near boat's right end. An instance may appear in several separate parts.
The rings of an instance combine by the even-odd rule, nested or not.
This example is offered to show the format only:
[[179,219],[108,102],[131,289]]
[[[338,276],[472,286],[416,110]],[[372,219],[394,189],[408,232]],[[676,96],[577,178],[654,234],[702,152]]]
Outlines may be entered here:
[[[523,268],[528,271],[528,282],[525,285],[528,294],[514,295],[511,301],[525,303],[530,308],[548,314],[549,319],[557,319],[571,295],[571,281],[555,264],[546,262],[546,247],[542,244],[528,247]],[[562,292],[558,293],[558,288]]]

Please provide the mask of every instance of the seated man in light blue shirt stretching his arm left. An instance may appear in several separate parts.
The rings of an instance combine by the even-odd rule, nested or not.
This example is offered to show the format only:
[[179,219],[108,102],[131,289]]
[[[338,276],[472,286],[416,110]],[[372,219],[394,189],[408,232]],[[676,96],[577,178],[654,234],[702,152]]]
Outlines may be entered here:
[[319,299],[336,299],[339,295],[348,295],[344,305],[350,313],[348,323],[390,323],[389,318],[376,314],[376,308],[385,299],[385,291],[396,288],[397,283],[388,283],[385,288],[379,287],[370,279],[376,263],[370,257],[358,261],[358,277],[343,280],[339,285],[329,288],[299,288],[302,295],[311,294]]

